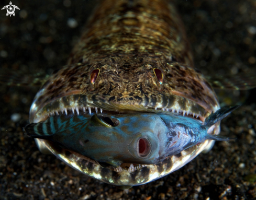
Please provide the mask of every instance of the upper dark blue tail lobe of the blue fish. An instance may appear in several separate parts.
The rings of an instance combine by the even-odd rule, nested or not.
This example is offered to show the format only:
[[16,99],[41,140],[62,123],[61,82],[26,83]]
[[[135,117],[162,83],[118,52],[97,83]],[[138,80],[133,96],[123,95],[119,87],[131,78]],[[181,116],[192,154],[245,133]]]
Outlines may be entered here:
[[215,123],[224,119],[233,110],[236,110],[238,107],[240,107],[240,105],[235,105],[233,107],[223,107],[217,110],[215,113],[212,113],[208,117],[206,117],[204,121],[204,126],[210,127],[214,125]]

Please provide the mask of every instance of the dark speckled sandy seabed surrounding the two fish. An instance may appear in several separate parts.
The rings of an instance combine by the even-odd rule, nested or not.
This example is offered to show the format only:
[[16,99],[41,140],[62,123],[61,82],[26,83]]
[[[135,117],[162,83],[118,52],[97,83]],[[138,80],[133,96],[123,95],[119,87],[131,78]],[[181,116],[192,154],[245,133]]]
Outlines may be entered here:
[[[192,43],[195,66],[203,74],[236,74],[255,69],[254,1],[176,2]],[[0,65],[47,73],[66,63],[82,32],[82,26],[75,27],[70,18],[83,25],[94,7],[93,1],[82,0],[70,6],[67,0],[13,4],[20,8],[15,17],[6,17],[6,11],[0,10]],[[0,199],[256,198],[255,183],[244,181],[246,175],[256,171],[255,89],[248,93],[247,102],[221,123],[221,135],[235,135],[236,142],[218,142],[208,154],[200,154],[180,170],[124,191],[87,178],[55,156],[38,151],[34,140],[23,131],[37,90],[0,87]],[[224,102],[236,103],[239,92],[232,97],[225,93],[226,97],[221,96]],[[20,116],[17,122],[11,120],[14,113]]]

